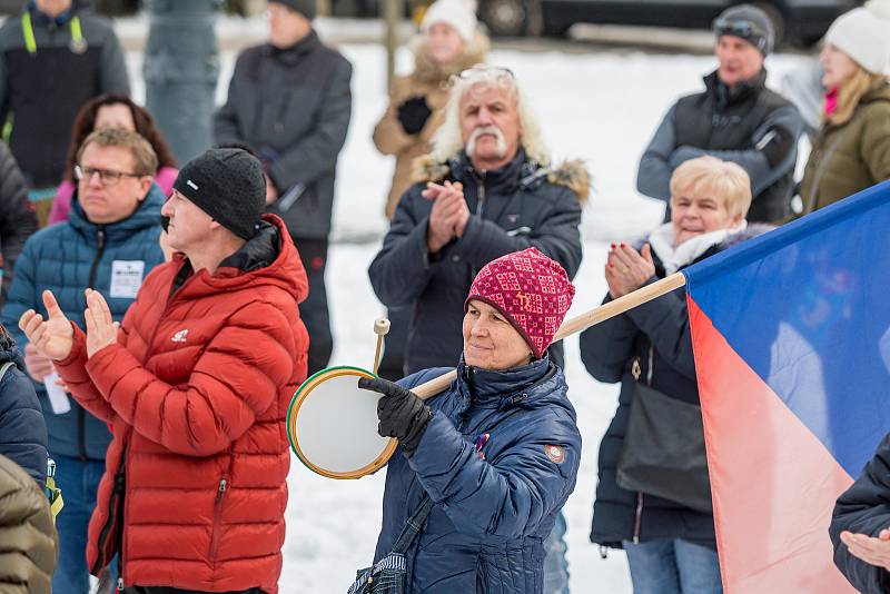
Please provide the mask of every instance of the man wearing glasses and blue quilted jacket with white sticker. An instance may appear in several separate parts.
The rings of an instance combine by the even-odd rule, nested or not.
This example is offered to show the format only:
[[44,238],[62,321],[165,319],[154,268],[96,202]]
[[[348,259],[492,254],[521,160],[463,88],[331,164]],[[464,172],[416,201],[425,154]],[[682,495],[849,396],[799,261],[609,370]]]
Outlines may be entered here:
[[56,481],[65,489],[65,512],[57,518],[56,592],[89,591],[87,524],[111,433],[56,385],[52,363],[27,340],[18,320],[28,309],[46,316],[41,294],[50,289],[66,316],[82,325],[87,287],[102,294],[115,320],[123,317],[142,279],[164,261],[158,238],[165,197],[152,182],[156,170],[155,151],[138,133],[103,128],[90,135],[78,155],[70,219],[28,239],[2,309],[37,383]]

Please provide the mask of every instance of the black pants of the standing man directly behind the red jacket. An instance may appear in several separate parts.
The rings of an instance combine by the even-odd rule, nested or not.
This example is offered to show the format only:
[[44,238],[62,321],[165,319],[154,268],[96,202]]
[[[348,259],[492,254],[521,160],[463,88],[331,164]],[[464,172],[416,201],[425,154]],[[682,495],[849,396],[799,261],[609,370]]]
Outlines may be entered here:
[[334,337],[330,334],[330,311],[327,308],[325,268],[327,267],[327,239],[293,237],[303,267],[309,277],[309,296],[299,304],[299,317],[309,333],[309,375],[327,367]]

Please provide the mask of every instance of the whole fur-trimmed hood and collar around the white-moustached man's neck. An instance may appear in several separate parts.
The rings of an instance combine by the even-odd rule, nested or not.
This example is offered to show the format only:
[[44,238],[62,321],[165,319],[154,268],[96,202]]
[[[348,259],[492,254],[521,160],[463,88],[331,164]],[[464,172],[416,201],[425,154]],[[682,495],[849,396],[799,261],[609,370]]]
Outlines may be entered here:
[[[464,151],[445,162],[437,162],[431,155],[414,160],[413,184],[439,182],[448,176],[457,179],[479,179],[479,174],[473,168]],[[580,159],[563,161],[557,166],[542,166],[530,159],[525,150],[520,148],[513,160],[504,167],[485,172],[486,188],[496,187],[497,191],[503,194],[513,194],[517,189],[534,189],[545,181],[568,188],[582,205],[590,195],[590,174],[584,161]]]

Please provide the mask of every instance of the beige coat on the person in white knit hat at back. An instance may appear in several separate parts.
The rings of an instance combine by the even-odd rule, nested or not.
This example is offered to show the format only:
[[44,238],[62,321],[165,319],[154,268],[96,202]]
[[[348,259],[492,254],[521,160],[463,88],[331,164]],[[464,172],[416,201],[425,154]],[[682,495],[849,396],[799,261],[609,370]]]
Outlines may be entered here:
[[[396,157],[393,185],[386,200],[386,217],[393,218],[398,199],[411,187],[412,161],[429,152],[431,139],[445,118],[448,101],[448,79],[471,66],[485,61],[488,53],[488,39],[476,33],[453,63],[436,66],[426,58],[423,38],[417,38],[413,47],[415,70],[407,77],[393,79],[389,91],[389,107],[374,128],[374,145],[384,155]],[[424,97],[433,111],[423,130],[407,135],[398,121],[398,106],[412,97]]]

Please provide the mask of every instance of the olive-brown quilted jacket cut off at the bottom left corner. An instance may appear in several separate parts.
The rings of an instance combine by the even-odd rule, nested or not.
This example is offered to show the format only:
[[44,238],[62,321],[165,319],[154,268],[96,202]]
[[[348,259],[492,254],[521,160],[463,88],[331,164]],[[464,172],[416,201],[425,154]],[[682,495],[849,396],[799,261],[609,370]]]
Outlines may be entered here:
[[57,555],[49,499],[6,456],[0,456],[0,592],[49,594]]

